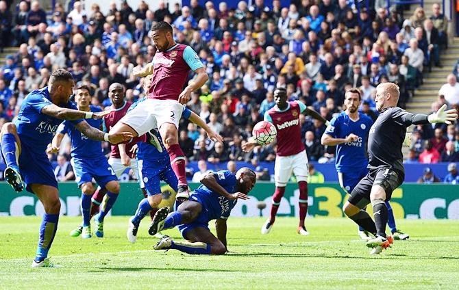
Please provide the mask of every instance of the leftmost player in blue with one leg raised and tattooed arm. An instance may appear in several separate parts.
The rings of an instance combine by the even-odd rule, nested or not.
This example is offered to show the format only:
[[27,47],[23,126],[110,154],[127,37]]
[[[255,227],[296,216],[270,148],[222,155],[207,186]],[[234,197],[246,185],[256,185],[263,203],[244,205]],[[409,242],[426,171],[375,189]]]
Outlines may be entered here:
[[70,72],[55,70],[47,87],[27,95],[17,120],[3,124],[1,128],[1,151],[7,165],[5,180],[16,192],[25,187],[40,199],[45,208],[32,267],[54,266],[47,256],[58,229],[60,201],[58,182],[45,150],[58,125],[62,120],[69,120],[87,137],[114,144],[132,137],[132,134],[103,133],[82,120],[103,118],[104,112],[76,110],[75,105],[69,102],[73,85]]

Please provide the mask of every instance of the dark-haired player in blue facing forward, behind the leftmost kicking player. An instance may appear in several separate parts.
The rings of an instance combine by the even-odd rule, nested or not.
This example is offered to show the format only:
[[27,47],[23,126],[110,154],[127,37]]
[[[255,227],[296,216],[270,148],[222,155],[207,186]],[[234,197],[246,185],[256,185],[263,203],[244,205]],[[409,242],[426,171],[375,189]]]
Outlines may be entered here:
[[[90,101],[91,96],[88,86],[82,85],[75,90],[75,102],[80,111],[92,111],[94,113],[102,111],[100,107],[90,105]],[[99,129],[102,127],[101,119],[88,120],[87,122],[92,127]],[[49,153],[58,152],[60,143],[65,134],[69,134],[72,142],[71,163],[73,171],[75,171],[78,187],[82,189],[81,210],[83,223],[77,230],[72,230],[71,236],[78,237],[79,234],[81,234],[83,239],[88,239],[91,237],[91,196],[95,192],[95,188],[92,185],[92,179],[95,179],[100,187],[105,187],[108,190],[106,202],[100,213],[103,217],[112,209],[118,197],[120,186],[118,177],[114,173],[112,166],[108,164],[106,156],[103,155],[101,142],[88,139],[88,137],[80,133],[70,121],[64,121],[59,125],[58,131],[53,138],[51,148],[48,150]],[[97,230],[96,235],[97,237],[102,237],[103,232]]]

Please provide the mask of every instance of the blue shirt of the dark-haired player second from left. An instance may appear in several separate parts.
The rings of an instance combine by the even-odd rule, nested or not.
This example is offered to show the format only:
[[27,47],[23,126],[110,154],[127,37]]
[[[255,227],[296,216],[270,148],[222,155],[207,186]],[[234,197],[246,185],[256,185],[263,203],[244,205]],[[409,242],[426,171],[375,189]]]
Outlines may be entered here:
[[[97,113],[102,111],[100,107],[90,105],[90,111]],[[101,128],[103,119],[86,120],[90,126],[97,129]],[[102,142],[89,139],[73,126],[71,121],[64,121],[58,127],[58,133],[69,134],[72,141],[71,156],[76,158],[96,158],[103,155]]]

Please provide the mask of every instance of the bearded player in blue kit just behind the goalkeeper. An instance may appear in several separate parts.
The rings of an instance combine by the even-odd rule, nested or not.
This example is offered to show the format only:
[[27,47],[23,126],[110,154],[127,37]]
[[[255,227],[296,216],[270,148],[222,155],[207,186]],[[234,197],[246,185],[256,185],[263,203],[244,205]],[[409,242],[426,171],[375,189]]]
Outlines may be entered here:
[[[367,140],[373,120],[358,112],[361,101],[358,89],[348,90],[344,103],[346,110],[330,121],[321,140],[322,145],[336,146],[335,167],[338,181],[347,193],[352,192],[360,179],[368,173]],[[390,203],[386,202],[386,206],[388,225],[394,239],[408,239],[409,235],[397,230]],[[366,241],[371,239],[369,233],[360,226],[358,235]]]

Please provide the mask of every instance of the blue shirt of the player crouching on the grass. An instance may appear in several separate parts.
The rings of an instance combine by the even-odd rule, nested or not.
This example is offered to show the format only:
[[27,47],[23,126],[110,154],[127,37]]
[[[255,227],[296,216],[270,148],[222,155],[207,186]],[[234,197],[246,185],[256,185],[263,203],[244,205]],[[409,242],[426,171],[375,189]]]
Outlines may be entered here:
[[[236,175],[232,174],[228,170],[221,170],[213,172],[216,182],[221,185],[227,192],[234,194],[236,192],[237,179]],[[219,218],[229,218],[229,214],[236,205],[237,200],[229,200],[225,196],[221,196],[216,192],[212,192],[212,189],[206,187],[206,185],[199,185],[195,190],[195,193],[199,195],[199,198],[203,202],[203,211],[206,211],[206,215],[209,220],[216,220]]]

